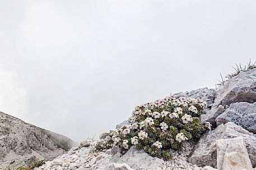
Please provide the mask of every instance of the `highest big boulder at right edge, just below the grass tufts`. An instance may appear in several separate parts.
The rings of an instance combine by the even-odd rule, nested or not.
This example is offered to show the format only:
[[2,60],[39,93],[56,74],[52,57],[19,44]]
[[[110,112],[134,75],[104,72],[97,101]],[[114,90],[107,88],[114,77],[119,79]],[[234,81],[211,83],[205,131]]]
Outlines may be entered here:
[[226,82],[220,90],[217,91],[215,104],[230,105],[237,102],[256,102],[256,69],[247,72],[241,72],[237,76]]

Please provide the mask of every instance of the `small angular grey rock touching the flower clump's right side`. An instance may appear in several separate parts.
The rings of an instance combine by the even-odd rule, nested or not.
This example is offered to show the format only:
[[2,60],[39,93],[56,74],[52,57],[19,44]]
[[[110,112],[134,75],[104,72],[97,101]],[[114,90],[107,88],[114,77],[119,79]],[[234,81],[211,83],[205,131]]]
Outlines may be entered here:
[[206,114],[201,115],[201,123],[210,122],[214,127],[216,127],[215,119],[218,115],[224,112],[224,106],[219,105],[218,107],[213,106],[211,110],[206,111]]

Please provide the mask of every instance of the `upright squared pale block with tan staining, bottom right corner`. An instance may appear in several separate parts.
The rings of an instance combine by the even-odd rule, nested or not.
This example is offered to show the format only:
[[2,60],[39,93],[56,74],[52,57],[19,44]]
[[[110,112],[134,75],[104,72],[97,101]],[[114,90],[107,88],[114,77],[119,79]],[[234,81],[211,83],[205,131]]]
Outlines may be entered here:
[[216,141],[218,170],[252,170],[243,137]]

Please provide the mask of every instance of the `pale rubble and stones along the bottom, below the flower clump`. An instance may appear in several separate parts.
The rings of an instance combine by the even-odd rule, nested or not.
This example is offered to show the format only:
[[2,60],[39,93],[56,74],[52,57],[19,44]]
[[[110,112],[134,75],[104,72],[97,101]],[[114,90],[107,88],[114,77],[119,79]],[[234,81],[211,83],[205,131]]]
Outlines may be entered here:
[[[120,153],[115,156],[111,155],[110,149],[103,150],[102,152],[96,152],[95,145],[102,142],[97,140],[92,142],[90,147],[86,148],[72,148],[67,154],[63,154],[55,158],[53,161],[46,162],[43,166],[36,168],[35,170],[106,170],[111,168],[131,168],[136,170],[200,170],[196,164],[187,162],[187,156],[192,150],[192,145],[184,143],[181,150],[172,151],[173,159],[170,161],[162,161],[158,158],[152,158],[148,156],[142,150],[132,148],[127,154],[124,154],[124,159]],[[135,159],[135,160],[134,160]],[[125,162],[127,166],[122,166]],[[133,162],[134,161],[134,162]],[[141,162],[139,162],[141,161]],[[132,168],[137,167],[137,168]],[[151,167],[149,167],[151,166]]]

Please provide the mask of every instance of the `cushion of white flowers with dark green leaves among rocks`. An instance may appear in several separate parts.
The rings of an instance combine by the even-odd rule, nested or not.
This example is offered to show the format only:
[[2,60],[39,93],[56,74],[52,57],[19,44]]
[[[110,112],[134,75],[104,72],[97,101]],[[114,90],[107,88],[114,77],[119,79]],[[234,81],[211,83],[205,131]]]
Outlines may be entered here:
[[170,159],[170,148],[178,150],[183,142],[197,140],[211,124],[203,125],[199,116],[206,103],[201,99],[167,96],[136,106],[129,124],[110,133],[121,151],[136,145],[153,157]]

